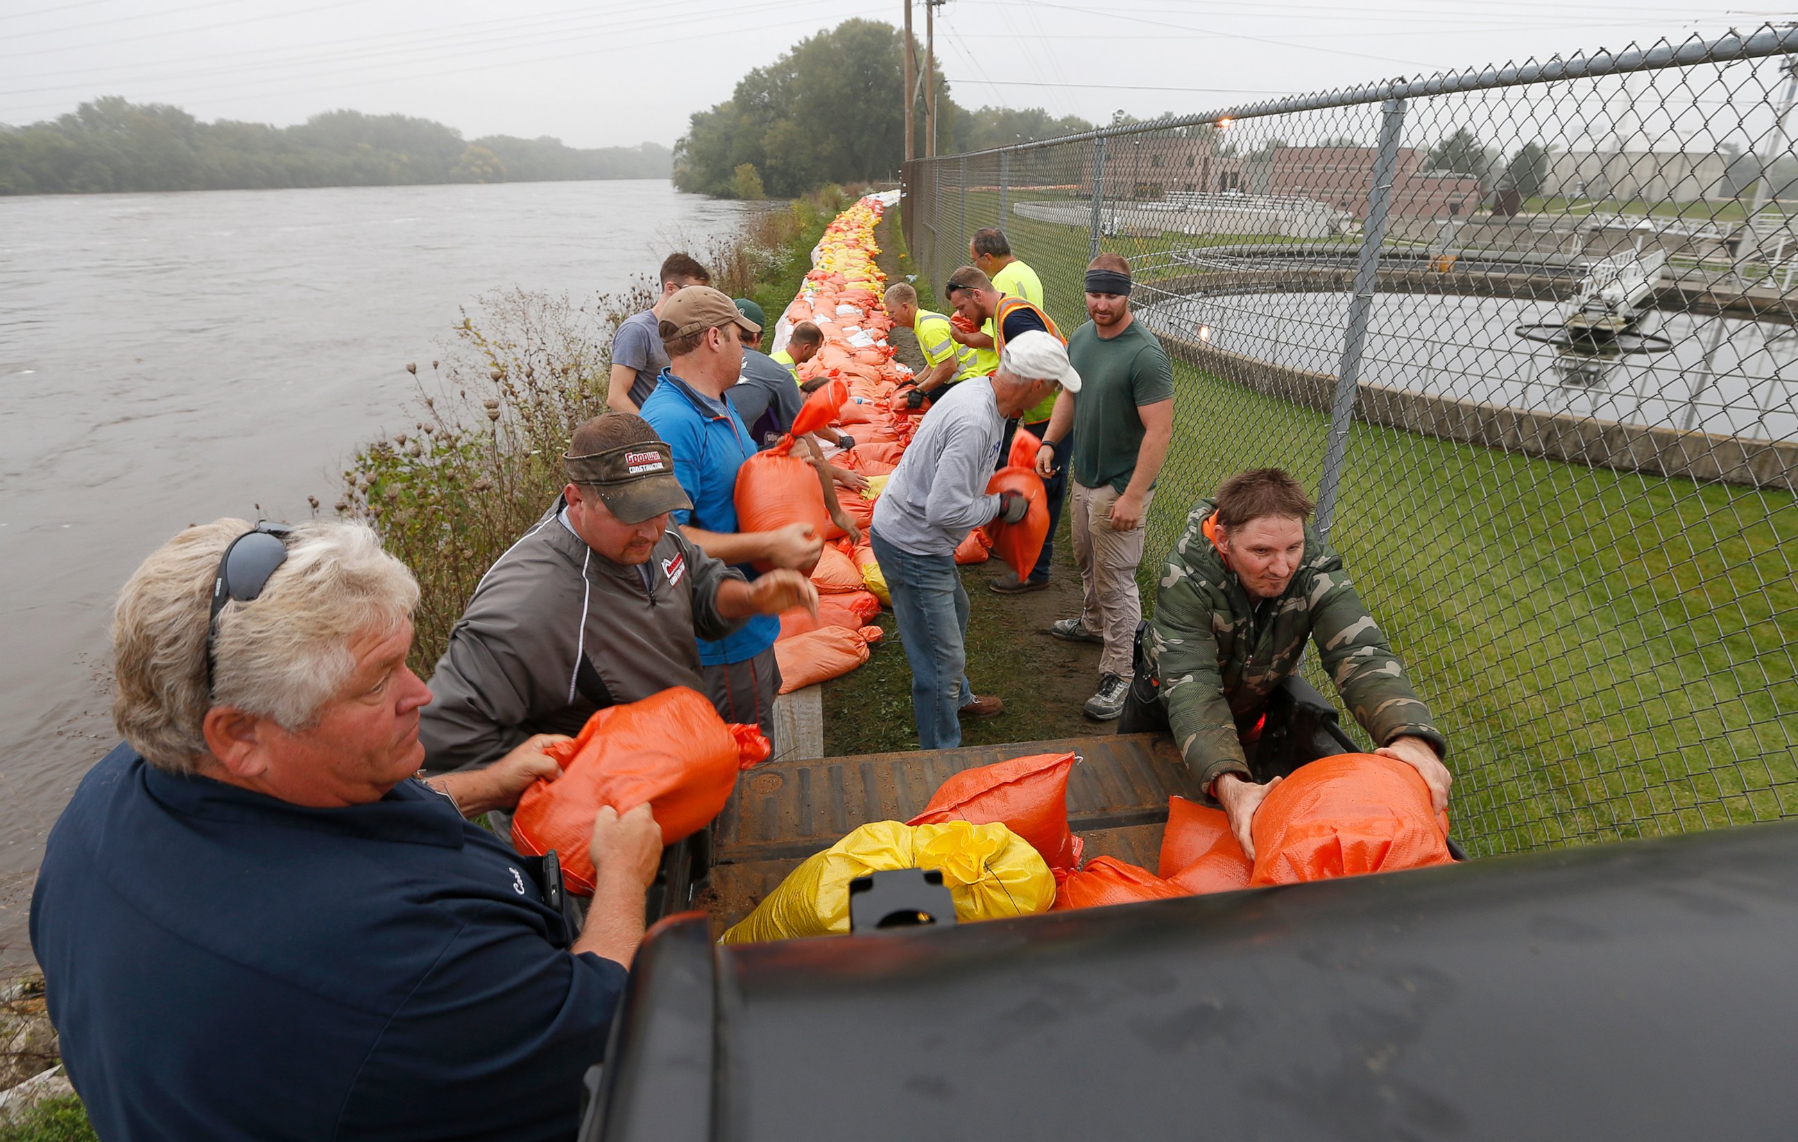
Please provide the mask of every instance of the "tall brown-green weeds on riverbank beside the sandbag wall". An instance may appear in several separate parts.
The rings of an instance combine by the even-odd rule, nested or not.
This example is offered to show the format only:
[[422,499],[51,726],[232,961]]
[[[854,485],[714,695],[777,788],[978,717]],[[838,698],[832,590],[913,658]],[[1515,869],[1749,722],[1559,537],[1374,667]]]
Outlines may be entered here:
[[[669,236],[669,248],[690,250],[716,288],[755,299],[771,324],[798,291],[823,228],[850,201],[841,187],[825,187],[755,210],[725,239]],[[586,304],[487,293],[462,311],[441,360],[406,365],[417,379],[414,430],[354,453],[336,513],[374,527],[417,575],[412,669],[421,676],[437,665],[480,577],[556,500],[568,437],[606,410],[611,335],[653,302],[647,281]]]

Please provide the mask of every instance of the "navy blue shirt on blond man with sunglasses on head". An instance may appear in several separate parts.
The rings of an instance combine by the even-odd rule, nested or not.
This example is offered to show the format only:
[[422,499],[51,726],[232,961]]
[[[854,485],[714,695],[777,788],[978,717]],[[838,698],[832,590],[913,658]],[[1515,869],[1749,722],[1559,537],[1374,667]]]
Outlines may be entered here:
[[63,1063],[108,1142],[556,1138],[626,969],[541,865],[415,781],[307,809],[120,745],[31,899]]

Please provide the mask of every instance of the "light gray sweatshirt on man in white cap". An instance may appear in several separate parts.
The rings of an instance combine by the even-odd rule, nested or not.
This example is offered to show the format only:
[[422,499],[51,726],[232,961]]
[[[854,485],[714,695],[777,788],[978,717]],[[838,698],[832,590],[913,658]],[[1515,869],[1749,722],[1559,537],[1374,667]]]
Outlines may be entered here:
[[967,532],[1000,514],[987,495],[1005,417],[992,378],[973,378],[930,406],[874,504],[874,532],[913,556],[953,556]]

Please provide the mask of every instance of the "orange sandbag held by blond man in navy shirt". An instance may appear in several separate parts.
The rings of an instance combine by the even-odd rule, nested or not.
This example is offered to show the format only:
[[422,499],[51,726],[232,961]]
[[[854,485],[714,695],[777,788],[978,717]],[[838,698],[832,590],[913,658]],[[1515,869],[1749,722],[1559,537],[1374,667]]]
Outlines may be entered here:
[[737,770],[768,757],[768,739],[752,725],[728,725],[698,691],[674,687],[642,701],[613,705],[586,719],[581,736],[545,750],[563,768],[518,799],[512,843],[520,852],[561,858],[568,890],[593,894],[588,842],[601,806],[629,813],[649,802],[672,845],[712,824]]

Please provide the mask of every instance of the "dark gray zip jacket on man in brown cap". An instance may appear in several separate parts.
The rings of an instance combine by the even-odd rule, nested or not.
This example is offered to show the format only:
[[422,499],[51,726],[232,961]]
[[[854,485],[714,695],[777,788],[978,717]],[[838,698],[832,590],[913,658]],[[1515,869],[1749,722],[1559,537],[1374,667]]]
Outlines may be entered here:
[[694,637],[744,622],[716,606],[719,583],[743,572],[680,532],[663,532],[647,565],[624,567],[568,531],[561,509],[557,498],[494,561],[450,631],[419,721],[432,773],[484,766],[532,734],[579,734],[606,705],[674,685],[703,694]]

